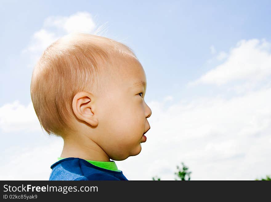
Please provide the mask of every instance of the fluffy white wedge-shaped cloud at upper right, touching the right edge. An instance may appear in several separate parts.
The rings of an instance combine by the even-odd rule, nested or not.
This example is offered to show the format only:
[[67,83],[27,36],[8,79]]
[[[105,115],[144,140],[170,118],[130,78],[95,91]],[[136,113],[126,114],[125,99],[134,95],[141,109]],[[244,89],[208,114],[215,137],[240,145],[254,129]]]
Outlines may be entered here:
[[[265,39],[241,40],[229,51],[229,57],[221,65],[211,69],[188,86],[204,84],[222,85],[232,81],[260,81],[271,74],[271,44]],[[219,58],[226,57],[220,53]]]

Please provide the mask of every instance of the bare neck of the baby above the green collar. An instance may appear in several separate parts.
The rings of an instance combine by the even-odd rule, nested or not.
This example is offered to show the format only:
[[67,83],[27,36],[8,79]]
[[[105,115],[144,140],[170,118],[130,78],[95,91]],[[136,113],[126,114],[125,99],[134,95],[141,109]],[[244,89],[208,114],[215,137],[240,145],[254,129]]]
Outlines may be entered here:
[[85,135],[74,135],[76,138],[65,138],[60,157],[75,157],[85,160],[110,161],[107,153],[93,140]]

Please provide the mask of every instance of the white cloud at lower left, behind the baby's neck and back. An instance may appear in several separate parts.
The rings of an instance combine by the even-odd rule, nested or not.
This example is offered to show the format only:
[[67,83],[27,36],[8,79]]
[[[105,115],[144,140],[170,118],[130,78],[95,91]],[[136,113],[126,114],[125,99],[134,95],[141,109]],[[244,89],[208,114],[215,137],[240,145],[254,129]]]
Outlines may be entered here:
[[0,166],[1,180],[49,180],[50,166],[60,156],[63,141],[54,138],[49,145],[37,144],[35,147],[13,147],[3,155],[9,155],[9,161]]

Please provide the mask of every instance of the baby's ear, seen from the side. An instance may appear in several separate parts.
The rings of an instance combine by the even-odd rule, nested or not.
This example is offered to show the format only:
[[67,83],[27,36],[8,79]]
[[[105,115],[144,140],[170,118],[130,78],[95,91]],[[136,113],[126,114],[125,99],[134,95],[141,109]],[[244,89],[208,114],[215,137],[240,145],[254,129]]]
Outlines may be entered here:
[[98,120],[93,112],[94,96],[91,93],[79,92],[72,101],[72,109],[75,116],[81,121],[85,121],[92,126],[98,125]]

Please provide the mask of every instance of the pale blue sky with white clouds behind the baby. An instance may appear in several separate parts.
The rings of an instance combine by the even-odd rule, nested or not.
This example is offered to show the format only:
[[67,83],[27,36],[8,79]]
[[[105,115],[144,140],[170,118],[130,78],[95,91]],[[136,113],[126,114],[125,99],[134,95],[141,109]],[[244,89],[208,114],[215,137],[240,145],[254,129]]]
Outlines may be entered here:
[[[9,159],[18,151],[25,151],[20,159],[31,156],[32,144],[35,151],[61,144],[42,133],[33,109],[27,107],[31,74],[42,47],[50,45],[46,44],[50,34],[60,37],[75,26],[53,24],[59,19],[79,19],[79,28],[90,32],[104,25],[103,36],[131,47],[146,72],[145,101],[153,112],[152,129],[138,156],[117,162],[128,179],[151,180],[151,173],[173,179],[171,173],[180,161],[191,168],[192,180],[254,179],[271,174],[271,164],[266,163],[271,155],[270,1],[0,4],[0,146],[6,152],[1,158],[7,162],[0,168],[3,171],[13,165]],[[42,38],[35,38],[35,33],[43,33]],[[155,148],[164,149],[164,154]],[[40,152],[39,156],[51,162],[57,152]],[[132,163],[144,164],[147,174],[140,176],[129,166]],[[237,166],[245,171],[238,168],[232,176],[219,175]],[[204,170],[211,168],[217,172],[203,177]],[[254,175],[249,176],[252,170]],[[42,172],[43,179],[49,171]]]

